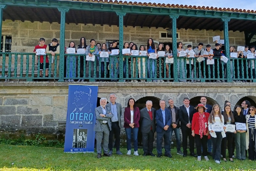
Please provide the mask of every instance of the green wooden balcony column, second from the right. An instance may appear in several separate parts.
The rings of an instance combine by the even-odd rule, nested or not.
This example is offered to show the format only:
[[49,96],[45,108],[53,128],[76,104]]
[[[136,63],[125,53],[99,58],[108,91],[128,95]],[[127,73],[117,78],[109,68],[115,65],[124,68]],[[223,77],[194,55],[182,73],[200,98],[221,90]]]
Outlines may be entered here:
[[172,19],[172,53],[173,53],[173,78],[174,82],[178,82],[178,66],[177,66],[177,19],[179,16],[170,15]]

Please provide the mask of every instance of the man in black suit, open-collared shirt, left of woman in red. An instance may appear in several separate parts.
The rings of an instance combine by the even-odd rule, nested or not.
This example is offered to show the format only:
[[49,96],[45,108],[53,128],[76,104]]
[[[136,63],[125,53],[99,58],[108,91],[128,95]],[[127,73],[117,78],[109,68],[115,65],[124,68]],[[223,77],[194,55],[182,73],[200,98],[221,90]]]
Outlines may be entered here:
[[179,109],[179,118],[180,118],[180,128],[182,129],[182,147],[183,147],[183,157],[187,157],[187,139],[189,139],[190,155],[197,157],[194,154],[194,137],[192,136],[191,123],[196,109],[193,106],[190,106],[189,99],[185,97],[183,99],[184,105]]

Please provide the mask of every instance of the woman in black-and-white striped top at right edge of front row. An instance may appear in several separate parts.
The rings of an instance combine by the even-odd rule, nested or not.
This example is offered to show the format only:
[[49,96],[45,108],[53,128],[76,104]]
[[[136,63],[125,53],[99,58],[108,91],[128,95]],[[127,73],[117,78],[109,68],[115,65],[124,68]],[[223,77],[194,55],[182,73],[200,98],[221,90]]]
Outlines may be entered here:
[[249,108],[249,115],[246,115],[246,149],[248,149],[249,161],[256,159],[256,108],[251,106]]

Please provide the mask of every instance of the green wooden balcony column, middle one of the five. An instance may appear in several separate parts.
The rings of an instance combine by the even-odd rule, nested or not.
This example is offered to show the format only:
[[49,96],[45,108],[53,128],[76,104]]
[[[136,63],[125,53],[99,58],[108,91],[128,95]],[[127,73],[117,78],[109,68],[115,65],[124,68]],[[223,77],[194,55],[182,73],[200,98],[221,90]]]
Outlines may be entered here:
[[122,47],[124,44],[124,16],[126,12],[116,12],[116,14],[119,16],[119,81],[124,82]]

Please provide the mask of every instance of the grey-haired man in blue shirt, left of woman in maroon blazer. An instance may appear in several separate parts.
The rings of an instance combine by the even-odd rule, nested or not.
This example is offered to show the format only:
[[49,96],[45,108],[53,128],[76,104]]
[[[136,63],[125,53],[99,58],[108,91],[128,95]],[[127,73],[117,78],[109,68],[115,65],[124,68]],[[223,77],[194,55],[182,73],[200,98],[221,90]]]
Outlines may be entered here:
[[113,117],[111,118],[111,131],[109,132],[109,141],[108,148],[109,154],[113,153],[113,135],[115,135],[115,145],[116,145],[116,154],[122,155],[120,151],[120,130],[121,130],[121,116],[122,116],[122,106],[120,103],[116,103],[116,94],[112,93],[109,95],[111,103],[107,103],[106,107],[111,109]]

